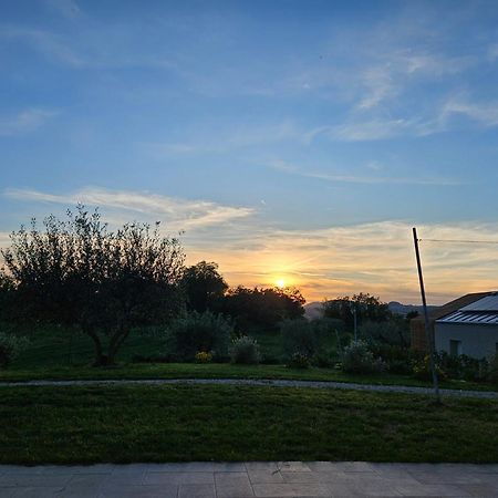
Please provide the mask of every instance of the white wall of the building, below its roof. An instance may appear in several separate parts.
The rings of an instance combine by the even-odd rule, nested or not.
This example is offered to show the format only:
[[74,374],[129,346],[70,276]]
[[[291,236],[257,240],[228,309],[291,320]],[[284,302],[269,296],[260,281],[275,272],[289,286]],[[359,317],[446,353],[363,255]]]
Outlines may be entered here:
[[461,341],[461,354],[481,359],[497,352],[498,325],[437,323],[436,351],[450,353],[449,341]]

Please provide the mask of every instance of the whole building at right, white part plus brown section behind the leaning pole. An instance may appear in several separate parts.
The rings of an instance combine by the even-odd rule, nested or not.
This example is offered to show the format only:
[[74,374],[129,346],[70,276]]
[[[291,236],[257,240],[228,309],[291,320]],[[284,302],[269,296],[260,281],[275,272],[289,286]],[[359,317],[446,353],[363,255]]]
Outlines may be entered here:
[[[436,351],[484,357],[498,347],[498,292],[466,294],[429,313]],[[411,322],[412,347],[427,351],[424,317]]]

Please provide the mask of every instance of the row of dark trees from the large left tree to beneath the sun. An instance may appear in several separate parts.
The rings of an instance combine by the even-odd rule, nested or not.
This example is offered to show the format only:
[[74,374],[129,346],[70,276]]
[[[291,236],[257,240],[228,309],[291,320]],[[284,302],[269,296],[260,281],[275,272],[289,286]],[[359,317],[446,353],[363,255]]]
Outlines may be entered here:
[[95,365],[113,364],[132,329],[188,312],[222,314],[241,331],[304,312],[299,290],[229,289],[216,263],[187,268],[179,240],[162,236],[159,224],[111,230],[83,206],[63,220],[33,219],[2,256],[0,320],[76,328],[92,339]]

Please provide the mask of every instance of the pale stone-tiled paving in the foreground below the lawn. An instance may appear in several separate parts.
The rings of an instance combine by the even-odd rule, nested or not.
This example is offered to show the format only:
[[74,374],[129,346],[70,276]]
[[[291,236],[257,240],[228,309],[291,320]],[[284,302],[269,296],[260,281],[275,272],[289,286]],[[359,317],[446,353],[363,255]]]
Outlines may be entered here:
[[498,465],[283,461],[0,466],[0,497],[498,497]]

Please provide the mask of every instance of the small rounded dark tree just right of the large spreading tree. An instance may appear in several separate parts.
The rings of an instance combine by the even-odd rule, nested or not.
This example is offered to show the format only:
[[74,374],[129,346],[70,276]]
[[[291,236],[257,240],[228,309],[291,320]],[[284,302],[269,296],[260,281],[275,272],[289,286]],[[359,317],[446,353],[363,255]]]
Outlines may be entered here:
[[216,262],[200,261],[185,270],[181,281],[185,286],[187,305],[199,313],[216,307],[228,289],[218,272]]

